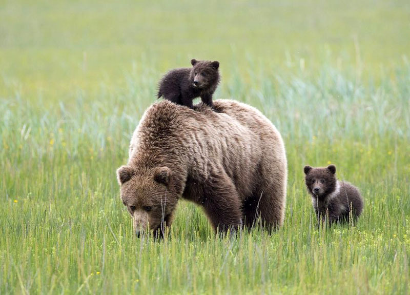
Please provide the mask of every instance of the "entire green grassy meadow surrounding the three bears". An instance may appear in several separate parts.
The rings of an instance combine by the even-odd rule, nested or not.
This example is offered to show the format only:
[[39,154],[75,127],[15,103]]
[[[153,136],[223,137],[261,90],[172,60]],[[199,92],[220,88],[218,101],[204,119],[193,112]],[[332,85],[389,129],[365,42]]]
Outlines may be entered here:
[[[410,292],[408,1],[0,3],[0,294]],[[218,60],[216,99],[261,110],[288,156],[282,228],[215,237],[181,201],[137,239],[115,170],[156,83]],[[303,165],[365,200],[315,227]]]

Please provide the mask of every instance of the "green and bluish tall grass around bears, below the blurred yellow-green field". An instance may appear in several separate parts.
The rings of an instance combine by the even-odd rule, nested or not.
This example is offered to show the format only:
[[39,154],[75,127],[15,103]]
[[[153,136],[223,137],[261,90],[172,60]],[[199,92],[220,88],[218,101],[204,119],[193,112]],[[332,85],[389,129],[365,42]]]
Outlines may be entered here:
[[[181,202],[169,237],[136,239],[115,169],[159,73],[58,104],[18,87],[0,107],[0,293],[406,293],[410,284],[410,68],[362,82],[332,68],[233,75],[218,99],[259,108],[289,161],[284,226],[214,236]],[[248,80],[250,79],[250,80]],[[365,209],[356,227],[315,227],[304,164],[334,163]]]

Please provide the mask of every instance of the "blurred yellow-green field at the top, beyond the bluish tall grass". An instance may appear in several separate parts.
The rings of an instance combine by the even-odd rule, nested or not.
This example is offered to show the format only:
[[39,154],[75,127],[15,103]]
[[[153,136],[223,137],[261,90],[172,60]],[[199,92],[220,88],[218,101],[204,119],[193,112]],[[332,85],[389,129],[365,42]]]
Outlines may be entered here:
[[5,0],[0,66],[7,82],[53,100],[124,87],[133,63],[159,74],[192,57],[219,60],[224,82],[250,67],[294,73],[301,60],[309,72],[353,66],[377,78],[408,54],[409,15],[406,1]]

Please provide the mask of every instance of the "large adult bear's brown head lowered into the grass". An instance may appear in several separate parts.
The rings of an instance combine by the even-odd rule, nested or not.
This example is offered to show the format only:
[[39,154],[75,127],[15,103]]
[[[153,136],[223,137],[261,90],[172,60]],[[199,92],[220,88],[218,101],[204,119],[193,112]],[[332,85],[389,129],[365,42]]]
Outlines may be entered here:
[[174,189],[170,189],[170,169],[121,166],[117,169],[117,179],[122,203],[133,219],[135,234],[139,237],[147,230],[160,233],[160,227],[165,227],[163,222],[171,222],[171,214],[178,200]]

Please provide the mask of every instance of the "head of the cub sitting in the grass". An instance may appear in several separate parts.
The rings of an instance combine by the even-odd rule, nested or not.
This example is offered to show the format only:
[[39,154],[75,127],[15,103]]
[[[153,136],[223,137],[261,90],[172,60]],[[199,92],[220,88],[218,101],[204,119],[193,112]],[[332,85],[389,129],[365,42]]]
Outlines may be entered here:
[[336,189],[336,166],[313,168],[304,166],[305,183],[308,191],[319,199],[324,199],[326,195]]

